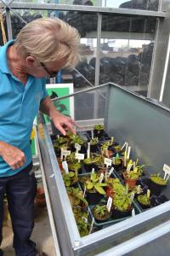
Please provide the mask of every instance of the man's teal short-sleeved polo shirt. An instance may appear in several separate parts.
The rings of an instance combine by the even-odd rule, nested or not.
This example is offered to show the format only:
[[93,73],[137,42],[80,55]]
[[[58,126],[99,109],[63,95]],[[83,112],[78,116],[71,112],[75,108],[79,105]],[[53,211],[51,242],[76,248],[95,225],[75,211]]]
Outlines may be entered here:
[[40,102],[48,92],[46,79],[36,79],[29,75],[26,85],[8,69],[7,49],[14,44],[9,41],[0,48],[0,141],[20,148],[26,155],[26,164],[12,170],[0,156],[0,177],[8,177],[20,172],[31,163],[31,130]]

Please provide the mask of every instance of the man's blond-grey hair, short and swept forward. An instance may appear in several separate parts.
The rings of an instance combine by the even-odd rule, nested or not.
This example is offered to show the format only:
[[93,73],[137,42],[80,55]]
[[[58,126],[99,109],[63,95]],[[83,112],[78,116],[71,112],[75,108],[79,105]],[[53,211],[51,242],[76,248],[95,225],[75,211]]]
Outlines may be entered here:
[[77,29],[57,18],[41,18],[24,26],[14,43],[22,57],[32,55],[43,63],[65,59],[65,67],[78,62],[80,36]]

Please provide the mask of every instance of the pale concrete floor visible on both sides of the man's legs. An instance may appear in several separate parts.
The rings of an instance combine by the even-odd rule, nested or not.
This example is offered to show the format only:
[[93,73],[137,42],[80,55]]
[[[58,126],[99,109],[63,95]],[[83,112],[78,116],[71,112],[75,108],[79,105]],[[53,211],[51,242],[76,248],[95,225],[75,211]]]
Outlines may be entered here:
[[[35,227],[31,236],[31,240],[37,243],[37,248],[48,256],[56,256],[54,253],[54,242],[51,234],[47,207],[35,206]],[[3,249],[4,256],[14,256],[13,231],[11,229],[10,220],[4,222],[3,225]]]

